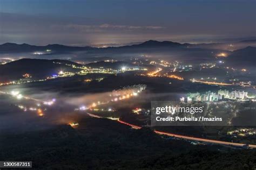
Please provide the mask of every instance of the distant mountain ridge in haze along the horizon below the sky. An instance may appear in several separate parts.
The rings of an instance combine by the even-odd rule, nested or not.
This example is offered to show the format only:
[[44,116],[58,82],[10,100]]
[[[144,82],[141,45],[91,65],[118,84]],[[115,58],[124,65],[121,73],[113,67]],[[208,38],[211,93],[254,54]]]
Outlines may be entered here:
[[[50,49],[52,52],[75,52],[75,51],[89,51],[89,52],[105,52],[111,51],[112,49],[116,51],[122,51],[124,49],[184,49],[184,48],[200,48],[200,49],[218,49],[218,50],[229,50],[233,51],[235,49],[244,48],[246,46],[256,46],[256,40],[243,40],[234,43],[210,43],[210,44],[181,44],[179,42],[173,41],[156,41],[149,40],[139,44],[125,45],[118,47],[105,47],[97,48],[90,46],[66,46],[60,44],[49,44],[46,46],[36,46],[29,44],[15,44],[15,43],[5,43],[0,45],[0,53],[9,52],[44,52]],[[232,49],[233,48],[233,49]]]

